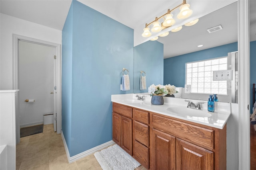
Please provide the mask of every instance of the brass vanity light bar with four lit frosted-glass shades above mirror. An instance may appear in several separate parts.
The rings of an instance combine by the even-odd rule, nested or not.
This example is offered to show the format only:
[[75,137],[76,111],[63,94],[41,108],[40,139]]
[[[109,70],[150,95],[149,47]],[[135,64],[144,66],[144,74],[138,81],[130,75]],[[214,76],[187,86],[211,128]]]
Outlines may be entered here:
[[[156,19],[154,21],[150,22],[149,24],[146,23],[146,26],[143,29],[144,32],[142,33],[142,37],[150,37],[152,35],[150,33],[150,28],[148,27],[151,24],[153,25],[153,27],[151,29],[152,32],[159,32],[159,31],[162,31],[162,30],[174,25],[176,23],[176,21],[172,18],[173,14],[171,14],[171,12],[176,10],[179,7],[180,7],[180,13],[177,16],[178,19],[185,19],[192,15],[193,11],[189,9],[190,5],[186,3],[186,0],[183,0],[182,4],[176,6],[172,10],[168,9],[166,14],[164,14],[160,17],[156,17]],[[160,20],[163,20],[163,22],[160,23]],[[182,26],[181,26],[181,28],[182,28]]]

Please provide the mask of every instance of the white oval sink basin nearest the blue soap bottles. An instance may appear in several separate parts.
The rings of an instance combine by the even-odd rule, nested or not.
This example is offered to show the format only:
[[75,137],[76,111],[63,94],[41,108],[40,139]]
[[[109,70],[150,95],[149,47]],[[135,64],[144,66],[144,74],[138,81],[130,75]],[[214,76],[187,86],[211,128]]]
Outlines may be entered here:
[[187,108],[187,107],[169,107],[167,108],[168,111],[172,112],[172,113],[176,113],[176,114],[180,114],[180,115],[187,115],[190,117],[210,117],[212,116],[212,114],[206,112],[206,111],[202,111],[202,110],[198,110],[198,109],[191,109],[191,108]]

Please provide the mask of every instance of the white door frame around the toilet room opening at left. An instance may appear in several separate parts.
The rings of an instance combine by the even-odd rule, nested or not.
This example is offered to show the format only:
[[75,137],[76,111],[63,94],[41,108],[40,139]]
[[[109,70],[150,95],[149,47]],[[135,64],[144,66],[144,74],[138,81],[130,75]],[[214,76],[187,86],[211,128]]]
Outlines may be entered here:
[[[57,133],[61,133],[61,119],[62,119],[62,110],[61,110],[61,71],[62,71],[62,55],[61,55],[61,45],[57,43],[52,43],[48,41],[43,41],[40,39],[34,39],[31,37],[25,37],[22,35],[16,35],[13,34],[13,89],[19,89],[19,84],[18,84],[18,41],[27,41],[30,43],[36,43],[40,45],[47,45],[50,47],[55,47],[56,48],[56,66],[55,66],[55,72],[56,72],[56,115],[57,115]],[[20,142],[20,121],[19,121],[19,116],[18,116],[18,94],[16,98],[16,143]],[[18,129],[18,130],[17,130]]]

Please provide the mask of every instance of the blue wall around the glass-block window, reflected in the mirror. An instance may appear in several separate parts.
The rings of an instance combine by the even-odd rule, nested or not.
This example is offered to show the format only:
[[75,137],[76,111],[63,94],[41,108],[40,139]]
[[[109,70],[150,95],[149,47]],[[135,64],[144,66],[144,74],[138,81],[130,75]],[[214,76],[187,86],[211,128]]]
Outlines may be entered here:
[[238,46],[236,42],[164,59],[164,84],[184,87],[186,74],[185,65],[187,62],[227,56],[228,53],[237,50]]

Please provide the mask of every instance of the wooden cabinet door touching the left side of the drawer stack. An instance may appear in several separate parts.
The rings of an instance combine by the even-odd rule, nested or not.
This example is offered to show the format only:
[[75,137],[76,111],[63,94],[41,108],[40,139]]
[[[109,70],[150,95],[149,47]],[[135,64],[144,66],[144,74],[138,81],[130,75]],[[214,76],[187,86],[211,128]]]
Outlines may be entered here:
[[132,119],[121,116],[121,148],[132,156]]

